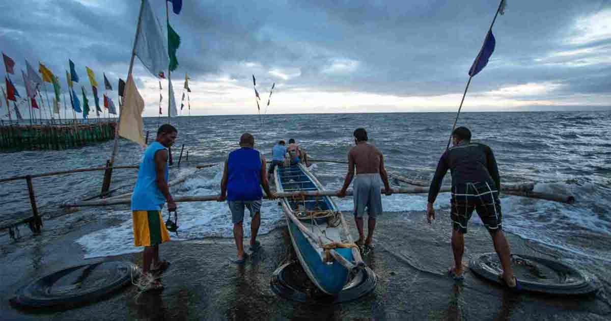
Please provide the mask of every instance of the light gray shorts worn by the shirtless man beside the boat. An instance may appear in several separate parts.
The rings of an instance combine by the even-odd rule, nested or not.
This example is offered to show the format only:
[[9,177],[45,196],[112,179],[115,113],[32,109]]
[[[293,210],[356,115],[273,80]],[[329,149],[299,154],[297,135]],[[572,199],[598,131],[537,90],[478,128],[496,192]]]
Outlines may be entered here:
[[378,173],[357,174],[354,177],[354,216],[362,218],[367,215],[375,219],[382,213],[382,178]]

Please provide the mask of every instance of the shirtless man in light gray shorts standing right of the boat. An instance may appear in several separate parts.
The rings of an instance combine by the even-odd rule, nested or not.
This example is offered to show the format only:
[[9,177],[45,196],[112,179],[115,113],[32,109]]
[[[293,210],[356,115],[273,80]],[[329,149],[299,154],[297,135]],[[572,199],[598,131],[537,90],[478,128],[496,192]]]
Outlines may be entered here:
[[[376,216],[382,213],[381,188],[384,183],[386,195],[392,194],[386,168],[384,168],[384,157],[373,145],[367,142],[367,131],[365,128],[357,128],[354,131],[354,142],[356,146],[348,153],[348,173],[344,180],[342,190],[337,193],[338,197],[346,196],[346,190],[354,177],[354,166],[356,166],[356,178],[354,178],[354,222],[359,230],[359,240],[356,244],[364,246],[365,251],[373,248],[371,240],[376,227]],[[367,238],[363,243],[363,216],[367,208]]]

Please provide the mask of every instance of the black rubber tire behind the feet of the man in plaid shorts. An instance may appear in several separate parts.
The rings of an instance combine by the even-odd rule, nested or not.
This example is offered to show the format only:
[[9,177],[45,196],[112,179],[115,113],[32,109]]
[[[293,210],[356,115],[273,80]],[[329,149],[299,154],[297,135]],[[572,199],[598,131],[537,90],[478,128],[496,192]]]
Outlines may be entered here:
[[[518,282],[522,287],[522,291],[555,295],[584,295],[591,292],[595,292],[599,288],[599,286],[595,284],[593,279],[588,276],[585,276],[579,270],[573,267],[569,267],[566,264],[563,264],[562,262],[544,259],[543,257],[527,256],[522,254],[518,254],[518,256],[530,260],[532,262],[536,262],[537,264],[545,265],[551,270],[556,271],[556,273],[558,274],[568,275],[571,276],[571,278],[576,279],[575,282],[565,284],[549,284],[529,281],[525,279],[518,279]],[[487,263],[491,261],[499,262],[499,258],[496,253],[480,254],[474,259],[469,260],[469,268],[470,270],[474,271],[476,275],[481,276],[482,278],[485,278],[488,281],[492,281],[497,284],[502,284],[499,279],[499,275],[491,271],[495,269],[492,267],[488,267],[487,265]],[[504,284],[502,285],[505,286]]]

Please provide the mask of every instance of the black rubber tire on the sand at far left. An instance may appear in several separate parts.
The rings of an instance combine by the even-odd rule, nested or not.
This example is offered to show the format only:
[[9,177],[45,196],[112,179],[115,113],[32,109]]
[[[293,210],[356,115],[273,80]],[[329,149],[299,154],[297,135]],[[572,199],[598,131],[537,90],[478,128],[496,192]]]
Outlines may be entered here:
[[[92,287],[86,291],[78,292],[73,295],[51,295],[48,289],[53,284],[72,271],[81,268],[97,268],[103,265],[104,268],[114,269],[115,277],[111,282],[102,284],[101,286]],[[71,309],[83,304],[92,303],[105,298],[107,295],[121,289],[127,284],[131,284],[131,271],[134,265],[128,261],[110,261],[98,262],[95,264],[78,265],[75,267],[65,268],[42,278],[36,279],[34,282],[27,284],[17,290],[15,297],[9,301],[13,306],[18,308],[53,308],[53,309]]]

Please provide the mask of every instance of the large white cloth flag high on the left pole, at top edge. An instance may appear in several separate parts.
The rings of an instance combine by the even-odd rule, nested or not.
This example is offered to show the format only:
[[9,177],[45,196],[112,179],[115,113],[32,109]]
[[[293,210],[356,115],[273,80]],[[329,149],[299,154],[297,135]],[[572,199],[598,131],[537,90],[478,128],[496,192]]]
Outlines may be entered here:
[[141,21],[136,39],[136,56],[144,67],[155,77],[167,69],[170,58],[167,56],[166,40],[161,32],[161,24],[155,17],[148,0],[142,0]]

